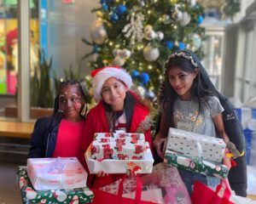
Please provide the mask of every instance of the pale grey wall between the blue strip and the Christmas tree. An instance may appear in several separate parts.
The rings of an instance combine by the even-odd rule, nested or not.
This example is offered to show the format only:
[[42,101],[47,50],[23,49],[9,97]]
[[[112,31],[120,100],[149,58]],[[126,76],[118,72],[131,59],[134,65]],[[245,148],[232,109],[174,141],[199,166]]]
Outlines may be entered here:
[[[91,51],[81,39],[90,40],[90,24],[96,19],[91,9],[97,6],[96,0],[75,0],[71,4],[48,0],[49,56],[53,56],[53,68],[59,77],[63,77],[64,67],[77,65],[79,59]],[[90,68],[83,60],[82,73],[89,72]]]

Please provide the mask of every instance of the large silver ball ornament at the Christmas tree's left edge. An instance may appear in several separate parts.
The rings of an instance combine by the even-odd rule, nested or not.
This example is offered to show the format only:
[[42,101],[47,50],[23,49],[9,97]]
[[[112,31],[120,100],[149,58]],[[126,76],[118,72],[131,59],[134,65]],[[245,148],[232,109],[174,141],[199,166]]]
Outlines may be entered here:
[[102,21],[96,20],[90,26],[90,38],[96,44],[102,44],[108,37],[107,31],[105,30]]

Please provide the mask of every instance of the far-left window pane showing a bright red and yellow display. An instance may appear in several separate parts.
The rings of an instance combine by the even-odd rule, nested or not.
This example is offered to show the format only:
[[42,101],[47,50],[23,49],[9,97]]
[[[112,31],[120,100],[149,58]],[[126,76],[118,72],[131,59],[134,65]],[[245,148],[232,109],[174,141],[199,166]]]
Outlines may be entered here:
[[18,20],[15,1],[0,4],[0,118],[17,117]]

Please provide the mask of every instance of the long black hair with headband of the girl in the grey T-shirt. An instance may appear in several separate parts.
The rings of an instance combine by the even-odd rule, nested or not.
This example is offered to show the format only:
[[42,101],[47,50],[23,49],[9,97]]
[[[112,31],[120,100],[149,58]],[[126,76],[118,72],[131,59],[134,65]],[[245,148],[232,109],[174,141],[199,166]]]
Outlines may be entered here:
[[216,96],[218,99],[224,99],[224,96],[218,92],[218,90],[212,84],[210,77],[207,74],[205,68],[201,65],[200,59],[196,54],[189,50],[178,51],[171,54],[165,65],[165,81],[160,88],[160,104],[163,106],[163,110],[166,112],[168,120],[166,120],[167,127],[173,127],[173,106],[178,97],[175,90],[172,88],[168,73],[173,67],[178,67],[186,72],[195,72],[198,70],[198,74],[192,84],[192,96],[198,100],[199,111],[201,110],[201,99],[207,96]]

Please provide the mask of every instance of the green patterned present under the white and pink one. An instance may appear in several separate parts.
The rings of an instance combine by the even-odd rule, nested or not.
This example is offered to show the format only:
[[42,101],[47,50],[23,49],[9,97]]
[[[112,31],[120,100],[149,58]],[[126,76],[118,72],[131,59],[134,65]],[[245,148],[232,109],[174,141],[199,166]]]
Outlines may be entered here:
[[18,167],[18,179],[23,203],[90,203],[94,197],[88,188],[74,190],[34,190],[26,167]]

